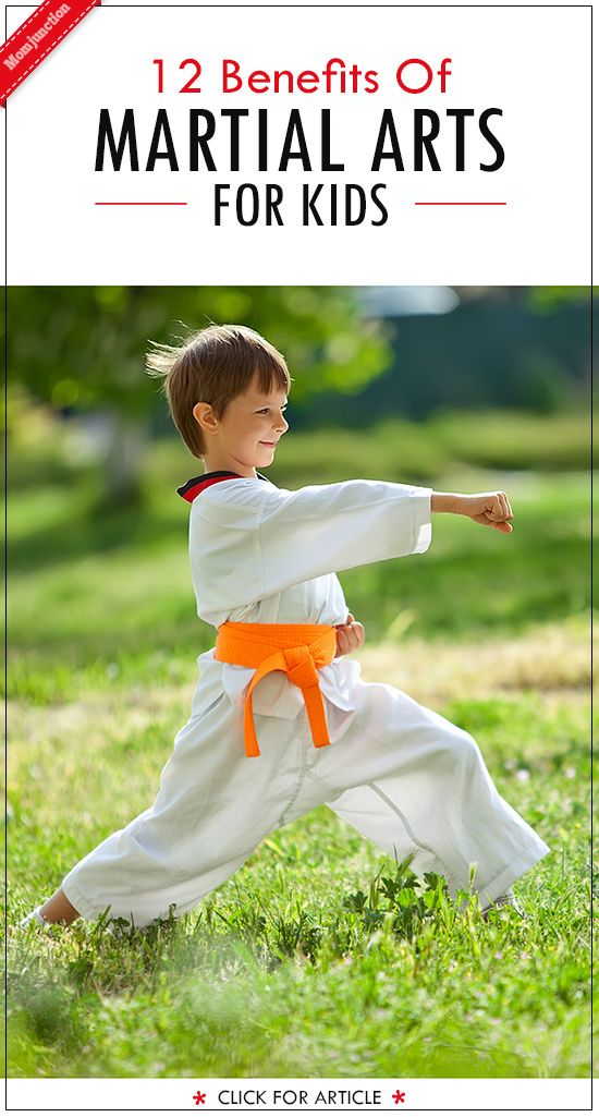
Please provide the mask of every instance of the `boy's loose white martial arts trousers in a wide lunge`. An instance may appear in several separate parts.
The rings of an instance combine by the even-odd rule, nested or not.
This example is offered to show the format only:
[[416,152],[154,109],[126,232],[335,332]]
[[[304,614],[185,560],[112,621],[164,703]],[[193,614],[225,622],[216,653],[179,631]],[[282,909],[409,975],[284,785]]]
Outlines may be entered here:
[[470,734],[387,684],[356,686],[355,716],[323,748],[305,708],[294,720],[254,715],[253,758],[243,712],[222,694],[178,732],[153,806],[65,877],[67,899],[86,919],[109,906],[138,927],[172,904],[181,916],[320,803],[390,857],[414,853],[414,871],[442,873],[452,896],[475,863],[482,907],[549,852],[499,795]]

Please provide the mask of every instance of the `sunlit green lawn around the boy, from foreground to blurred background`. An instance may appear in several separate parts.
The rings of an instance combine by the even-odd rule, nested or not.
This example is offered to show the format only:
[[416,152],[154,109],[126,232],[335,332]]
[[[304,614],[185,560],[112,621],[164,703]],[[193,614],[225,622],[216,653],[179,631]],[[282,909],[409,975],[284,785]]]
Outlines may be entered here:
[[[173,491],[193,464],[158,446],[134,515],[98,512],[93,470],[55,466],[9,505],[9,924],[152,803],[213,634]],[[550,846],[516,882],[525,919],[397,879],[320,808],[181,920],[11,934],[10,1076],[589,1075],[586,484],[464,467],[435,483],[491,484],[512,495],[509,538],[436,517],[427,555],[341,581],[365,678],[408,678],[468,729]]]

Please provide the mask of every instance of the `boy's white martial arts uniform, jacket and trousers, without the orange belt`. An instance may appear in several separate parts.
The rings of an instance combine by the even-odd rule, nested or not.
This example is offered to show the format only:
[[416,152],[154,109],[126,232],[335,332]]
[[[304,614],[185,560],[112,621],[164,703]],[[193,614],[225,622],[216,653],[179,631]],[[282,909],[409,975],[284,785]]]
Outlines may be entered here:
[[[206,475],[216,477],[216,475]],[[191,483],[190,483],[191,484]],[[197,613],[218,628],[344,624],[334,571],[418,554],[431,543],[431,489],[375,480],[277,488],[228,477],[193,500]],[[442,873],[451,895],[495,899],[548,846],[499,795],[473,737],[386,682],[364,682],[348,657],[319,670],[331,744],[316,748],[298,687],[281,671],[258,684],[261,755],[248,757],[243,707],[253,668],[197,660],[191,717],[177,733],[154,804],[62,881],[93,919],[107,906],[136,926],[183,915],[271,831],[326,803],[385,853]],[[342,871],[342,867],[339,867]]]

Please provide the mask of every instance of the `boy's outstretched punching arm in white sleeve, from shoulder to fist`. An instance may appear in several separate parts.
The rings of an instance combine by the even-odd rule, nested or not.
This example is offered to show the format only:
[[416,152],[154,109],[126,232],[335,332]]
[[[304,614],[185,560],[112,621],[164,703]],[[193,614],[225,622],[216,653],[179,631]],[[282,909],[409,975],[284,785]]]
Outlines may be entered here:
[[259,601],[335,571],[421,554],[431,543],[432,512],[511,531],[511,508],[499,493],[433,493],[364,479],[296,491],[264,491],[258,481],[215,485],[192,506],[199,613]]

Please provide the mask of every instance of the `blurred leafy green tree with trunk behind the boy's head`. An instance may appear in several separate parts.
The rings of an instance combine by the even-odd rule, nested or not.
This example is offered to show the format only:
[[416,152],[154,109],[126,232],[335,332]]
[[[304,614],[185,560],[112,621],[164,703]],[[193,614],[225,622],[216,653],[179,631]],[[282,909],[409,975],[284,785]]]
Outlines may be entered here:
[[138,496],[160,385],[144,371],[147,342],[170,342],[210,322],[240,322],[286,356],[293,399],[355,393],[390,363],[380,326],[344,287],[10,287],[8,373],[58,410],[102,410],[106,496]]

